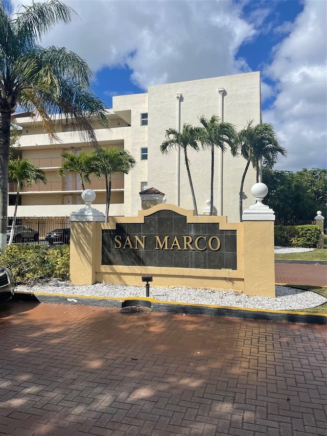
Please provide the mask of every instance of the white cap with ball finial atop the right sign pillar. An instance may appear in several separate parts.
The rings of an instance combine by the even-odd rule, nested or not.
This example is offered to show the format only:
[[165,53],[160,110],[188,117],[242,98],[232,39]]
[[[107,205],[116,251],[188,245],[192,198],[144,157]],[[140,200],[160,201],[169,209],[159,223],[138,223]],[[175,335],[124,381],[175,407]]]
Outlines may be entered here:
[[268,194],[268,187],[265,183],[255,183],[251,188],[251,194],[255,197],[255,204],[243,211],[243,221],[275,221],[275,213],[262,200]]

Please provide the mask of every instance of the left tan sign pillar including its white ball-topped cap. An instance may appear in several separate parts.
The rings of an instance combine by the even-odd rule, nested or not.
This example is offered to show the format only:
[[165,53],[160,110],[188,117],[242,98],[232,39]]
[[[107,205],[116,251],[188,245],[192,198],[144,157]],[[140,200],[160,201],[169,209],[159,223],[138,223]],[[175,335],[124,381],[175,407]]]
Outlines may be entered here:
[[101,244],[97,223],[104,222],[105,216],[91,207],[96,198],[94,191],[86,189],[81,197],[86,203],[85,208],[72,212],[70,217],[70,278],[74,285],[92,285],[96,283],[96,253]]

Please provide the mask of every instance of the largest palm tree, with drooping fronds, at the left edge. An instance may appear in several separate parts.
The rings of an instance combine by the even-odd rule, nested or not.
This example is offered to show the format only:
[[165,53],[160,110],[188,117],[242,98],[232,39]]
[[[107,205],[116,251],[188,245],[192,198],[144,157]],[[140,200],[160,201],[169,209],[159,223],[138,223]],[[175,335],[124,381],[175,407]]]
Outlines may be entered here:
[[[77,17],[60,0],[20,6],[11,18],[0,2],[0,247],[6,247],[10,119],[17,105],[41,117],[56,139],[55,122],[69,119],[93,146],[92,121],[108,126],[104,104],[90,88],[91,71],[84,60],[64,48],[42,48],[41,37],[56,24]],[[57,113],[54,117],[53,114]]]

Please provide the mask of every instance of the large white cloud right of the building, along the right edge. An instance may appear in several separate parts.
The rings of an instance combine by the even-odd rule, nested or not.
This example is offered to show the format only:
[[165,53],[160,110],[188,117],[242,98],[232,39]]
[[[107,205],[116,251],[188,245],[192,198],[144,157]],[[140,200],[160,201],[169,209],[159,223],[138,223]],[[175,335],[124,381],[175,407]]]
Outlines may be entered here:
[[324,1],[307,1],[265,71],[276,81],[277,97],[263,121],[274,125],[288,150],[275,169],[298,171],[327,163],[325,17]]

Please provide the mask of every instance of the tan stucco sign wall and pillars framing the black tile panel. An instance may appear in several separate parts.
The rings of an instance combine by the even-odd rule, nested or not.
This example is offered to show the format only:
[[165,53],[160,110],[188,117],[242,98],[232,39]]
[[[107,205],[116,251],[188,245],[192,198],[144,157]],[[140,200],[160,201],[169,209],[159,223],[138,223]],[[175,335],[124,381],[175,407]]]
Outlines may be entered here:
[[[123,222],[143,223],[145,216],[160,210],[184,215],[190,223],[219,223],[221,230],[236,230],[237,269],[101,265],[103,229],[113,229]],[[108,223],[73,222],[71,229],[71,281],[76,285],[100,282],[140,286],[141,276],[150,274],[154,287],[199,287],[275,296],[273,222],[228,223],[226,217],[195,216],[191,210],[159,204],[139,211],[137,217],[110,217]]]

